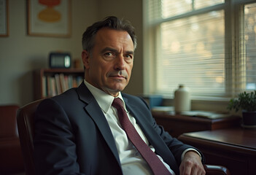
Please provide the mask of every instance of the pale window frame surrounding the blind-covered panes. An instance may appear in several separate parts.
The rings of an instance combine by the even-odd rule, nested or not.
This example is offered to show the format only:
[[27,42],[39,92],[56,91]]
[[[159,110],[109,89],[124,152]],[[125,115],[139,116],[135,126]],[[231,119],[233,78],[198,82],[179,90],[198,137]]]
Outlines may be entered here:
[[[239,68],[241,50],[239,39],[243,37],[244,5],[253,3],[249,0],[225,0],[223,4],[217,4],[212,7],[203,9],[195,9],[182,15],[177,15],[171,18],[156,20],[154,23],[149,23],[147,0],[144,0],[144,93],[145,94],[160,94],[156,91],[156,61],[160,49],[160,23],[165,23],[169,20],[178,20],[187,18],[193,15],[205,14],[211,11],[224,10],[225,12],[225,96],[222,97],[201,97],[193,96],[195,101],[229,101],[237,95],[238,89],[243,88],[237,85],[237,79],[241,79],[236,74],[236,69]],[[243,38],[242,38],[243,39]],[[153,44],[155,43],[155,44]],[[232,47],[233,46],[233,47]],[[244,55],[244,54],[242,54]],[[161,94],[167,98],[173,98],[173,92],[170,94]]]

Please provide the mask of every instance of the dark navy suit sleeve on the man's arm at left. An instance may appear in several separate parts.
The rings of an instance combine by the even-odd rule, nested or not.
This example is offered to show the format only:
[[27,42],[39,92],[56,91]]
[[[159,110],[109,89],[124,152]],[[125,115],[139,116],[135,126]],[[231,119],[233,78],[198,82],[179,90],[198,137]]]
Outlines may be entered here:
[[63,108],[52,99],[44,100],[34,122],[36,174],[80,174],[74,131]]

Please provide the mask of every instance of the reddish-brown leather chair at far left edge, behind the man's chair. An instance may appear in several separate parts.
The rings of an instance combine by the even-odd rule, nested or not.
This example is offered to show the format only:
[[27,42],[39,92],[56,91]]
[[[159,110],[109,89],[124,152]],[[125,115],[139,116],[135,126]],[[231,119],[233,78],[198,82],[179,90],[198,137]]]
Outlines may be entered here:
[[0,106],[0,174],[24,172],[16,113],[18,105]]

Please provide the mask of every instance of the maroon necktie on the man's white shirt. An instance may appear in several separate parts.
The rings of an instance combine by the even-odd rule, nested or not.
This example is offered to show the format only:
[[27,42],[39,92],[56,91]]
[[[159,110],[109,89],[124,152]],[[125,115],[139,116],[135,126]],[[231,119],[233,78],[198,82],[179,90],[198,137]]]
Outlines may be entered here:
[[123,130],[128,136],[128,139],[133,143],[136,149],[141,154],[142,158],[147,161],[147,164],[152,169],[153,174],[155,175],[171,175],[170,171],[163,165],[163,162],[155,155],[155,152],[152,152],[150,147],[141,139],[139,133],[137,133],[131,121],[128,119],[128,116],[123,109],[123,103],[120,98],[115,98],[112,106],[117,109],[117,114],[119,117],[120,124],[122,125]]

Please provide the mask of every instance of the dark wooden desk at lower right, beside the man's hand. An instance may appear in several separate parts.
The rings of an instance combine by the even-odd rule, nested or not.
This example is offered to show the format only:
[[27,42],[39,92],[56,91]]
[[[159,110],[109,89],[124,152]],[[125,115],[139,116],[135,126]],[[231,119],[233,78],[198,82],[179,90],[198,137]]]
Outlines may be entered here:
[[256,174],[256,130],[228,128],[184,133],[179,140],[200,149],[207,164],[225,166],[232,175]]

